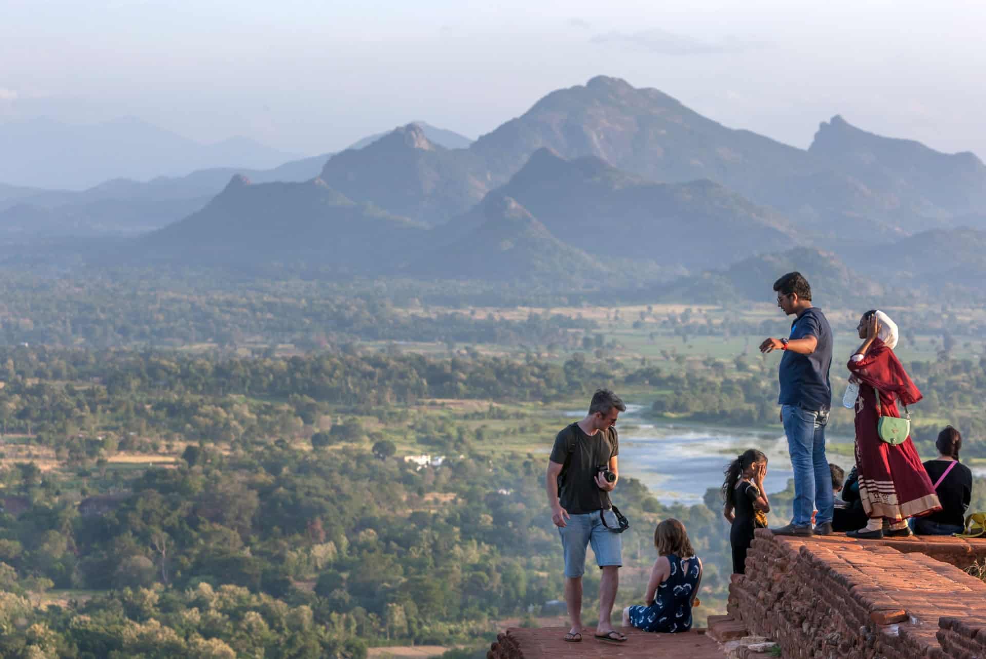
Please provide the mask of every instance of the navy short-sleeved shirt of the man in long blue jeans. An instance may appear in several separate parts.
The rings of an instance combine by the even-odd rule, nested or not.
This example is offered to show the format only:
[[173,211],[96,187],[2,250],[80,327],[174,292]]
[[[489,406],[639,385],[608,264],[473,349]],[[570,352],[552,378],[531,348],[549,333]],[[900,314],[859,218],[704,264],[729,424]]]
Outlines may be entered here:
[[832,404],[832,385],[828,369],[832,365],[832,328],[821,309],[811,306],[791,323],[789,340],[813,336],[818,341],[810,355],[784,351],[778,371],[781,381],[781,405],[796,405],[806,410],[827,410]]

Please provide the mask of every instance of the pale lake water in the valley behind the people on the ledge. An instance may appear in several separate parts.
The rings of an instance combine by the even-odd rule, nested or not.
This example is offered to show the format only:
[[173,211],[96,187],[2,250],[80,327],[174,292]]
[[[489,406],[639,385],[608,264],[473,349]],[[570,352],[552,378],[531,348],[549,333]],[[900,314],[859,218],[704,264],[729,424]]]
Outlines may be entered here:
[[[654,424],[641,418],[643,410],[641,405],[627,405],[616,424],[619,470],[624,476],[642,481],[662,503],[701,503],[707,489],[722,487],[723,470],[747,448],[759,449],[767,456],[764,486],[768,493],[784,490],[788,479],[793,477],[783,432]],[[566,416],[573,418],[585,414],[566,412]],[[830,454],[828,460],[846,472],[853,464],[848,456]]]

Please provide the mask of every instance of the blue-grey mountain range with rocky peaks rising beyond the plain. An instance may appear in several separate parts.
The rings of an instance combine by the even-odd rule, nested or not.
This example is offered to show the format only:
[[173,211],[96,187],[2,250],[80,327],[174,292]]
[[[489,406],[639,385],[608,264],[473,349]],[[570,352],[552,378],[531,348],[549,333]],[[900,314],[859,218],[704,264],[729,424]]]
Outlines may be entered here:
[[[248,176],[216,168],[81,193],[5,187],[0,204],[17,203],[23,215],[32,206],[64,210],[67,202],[52,201],[58,194],[62,202],[76,195],[76,205],[109,195],[125,214],[123,200],[194,200],[195,212],[141,238],[134,253],[303,261],[368,276],[660,284],[759,298],[761,277],[797,269],[799,259],[839,286],[907,268],[928,281],[986,270],[976,249],[986,166],[838,115],[819,125],[809,149],[797,149],[599,76],[547,95],[475,142],[417,122],[354,146]],[[230,182],[208,201],[221,181]],[[126,208],[134,226],[148,224],[137,216],[162,217]],[[43,225],[17,225],[11,211],[0,226]],[[66,218],[81,211],[73,213]],[[931,244],[941,262],[924,260]],[[746,280],[757,282],[755,294]]]

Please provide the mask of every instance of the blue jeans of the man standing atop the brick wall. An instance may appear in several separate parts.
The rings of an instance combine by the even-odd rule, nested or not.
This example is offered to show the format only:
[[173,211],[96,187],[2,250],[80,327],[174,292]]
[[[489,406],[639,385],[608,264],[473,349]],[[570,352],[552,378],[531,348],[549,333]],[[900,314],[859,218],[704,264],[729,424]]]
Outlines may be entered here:
[[832,472],[825,458],[828,411],[782,405],[781,416],[795,471],[795,514],[792,521],[798,526],[810,525],[811,513],[817,509],[818,514],[814,518],[816,525],[831,522]]

